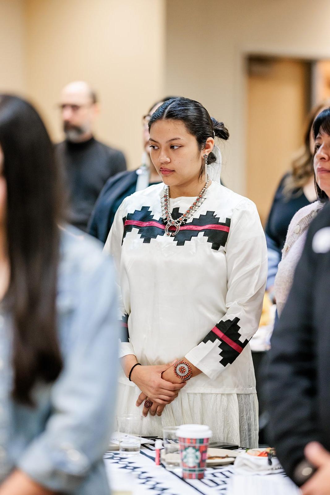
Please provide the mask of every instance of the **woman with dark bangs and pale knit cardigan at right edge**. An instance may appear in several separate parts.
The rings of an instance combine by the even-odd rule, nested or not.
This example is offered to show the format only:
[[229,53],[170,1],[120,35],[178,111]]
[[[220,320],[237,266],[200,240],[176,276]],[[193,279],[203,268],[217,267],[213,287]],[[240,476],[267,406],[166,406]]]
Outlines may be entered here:
[[330,197],[330,158],[326,143],[328,140],[330,141],[330,108],[317,115],[313,124],[313,141],[315,141],[313,168],[318,200],[304,206],[293,216],[283,247],[282,261],[275,278],[274,293],[279,315],[291,289],[294,270],[305,244],[309,224]]

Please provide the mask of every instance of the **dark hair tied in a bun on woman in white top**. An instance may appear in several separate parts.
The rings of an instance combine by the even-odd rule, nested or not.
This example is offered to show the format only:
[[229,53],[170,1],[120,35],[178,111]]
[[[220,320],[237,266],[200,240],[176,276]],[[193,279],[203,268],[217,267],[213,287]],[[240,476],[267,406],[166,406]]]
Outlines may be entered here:
[[[164,101],[151,115],[149,120],[149,131],[154,122],[157,120],[181,120],[184,122],[189,134],[196,138],[198,148],[204,148],[207,138],[217,138],[227,141],[229,132],[223,122],[218,122],[206,108],[189,98],[174,98]],[[211,151],[208,155],[209,164],[216,161],[215,154]]]

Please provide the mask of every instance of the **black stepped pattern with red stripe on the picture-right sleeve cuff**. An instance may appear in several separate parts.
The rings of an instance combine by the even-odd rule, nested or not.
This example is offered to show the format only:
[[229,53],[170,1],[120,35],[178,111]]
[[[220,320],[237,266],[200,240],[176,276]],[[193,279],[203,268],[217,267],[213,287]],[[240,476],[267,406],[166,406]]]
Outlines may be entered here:
[[[244,348],[248,344],[248,340],[245,339],[244,342],[241,342],[239,339],[241,338],[241,334],[239,333],[240,327],[237,325],[239,322],[239,318],[234,318],[234,320],[226,320],[226,321],[219,321],[219,323],[216,324],[216,327],[223,333],[225,336],[230,339],[234,344],[238,345],[239,347]],[[233,348],[230,344],[225,342],[224,340],[221,339],[221,337],[218,337],[212,330],[207,334],[207,336],[201,341],[206,344],[208,341],[215,342],[218,340],[220,342],[219,348],[221,349],[220,355],[220,361],[219,363],[222,364],[223,366],[227,366],[227,364],[232,364],[236,357],[239,356],[240,352]]]

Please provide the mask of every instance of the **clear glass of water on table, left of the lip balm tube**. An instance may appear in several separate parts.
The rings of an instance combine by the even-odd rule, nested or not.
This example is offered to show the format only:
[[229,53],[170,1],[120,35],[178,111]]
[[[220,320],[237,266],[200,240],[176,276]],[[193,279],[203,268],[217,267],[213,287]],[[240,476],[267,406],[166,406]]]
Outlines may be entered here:
[[117,416],[119,452],[127,456],[140,453],[142,416],[122,414]]

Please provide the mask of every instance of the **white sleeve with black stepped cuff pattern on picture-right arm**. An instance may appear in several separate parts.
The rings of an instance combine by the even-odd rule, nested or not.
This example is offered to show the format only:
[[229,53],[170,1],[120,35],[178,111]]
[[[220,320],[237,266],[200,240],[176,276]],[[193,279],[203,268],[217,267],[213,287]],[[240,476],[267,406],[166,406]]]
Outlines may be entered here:
[[186,358],[209,378],[230,366],[257,331],[267,278],[267,247],[255,204],[233,212],[226,246],[227,312]]

